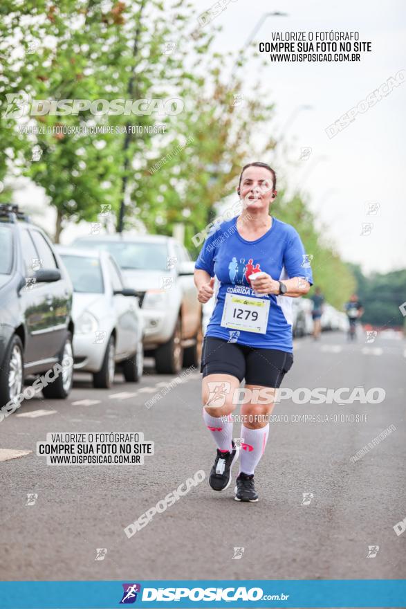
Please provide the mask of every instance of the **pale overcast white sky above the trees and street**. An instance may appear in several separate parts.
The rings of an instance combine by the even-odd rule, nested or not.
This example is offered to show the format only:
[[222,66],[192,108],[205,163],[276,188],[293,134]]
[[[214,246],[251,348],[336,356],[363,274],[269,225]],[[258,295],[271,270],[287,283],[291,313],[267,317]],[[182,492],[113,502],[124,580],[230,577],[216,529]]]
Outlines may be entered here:
[[[192,3],[197,25],[197,17],[210,10],[213,3]],[[268,62],[261,69],[264,87],[258,93],[269,95],[275,103],[274,119],[266,126],[267,133],[282,134],[284,139],[279,153],[275,156],[270,151],[263,160],[272,162],[282,184],[304,194],[326,241],[344,260],[360,264],[365,273],[406,268],[406,82],[394,87],[365,113],[358,113],[335,137],[327,136],[326,127],[406,69],[406,19],[402,8],[400,0],[234,0],[212,20],[212,24],[223,28],[214,43],[220,53],[237,53],[262,15],[274,11],[288,16],[268,17],[255,42],[271,42],[276,31],[330,30],[358,31],[361,41],[371,42],[371,53],[363,53],[360,62],[270,62],[264,54]],[[250,60],[244,67],[242,92],[252,93],[258,68],[258,60]],[[250,138],[249,132],[247,137]],[[260,143],[261,136],[252,134],[253,151]],[[304,148],[311,149],[310,156],[299,160]],[[247,158],[247,162],[253,160],[260,159]],[[44,200],[40,189],[28,190]],[[27,192],[22,191],[17,200],[23,202],[26,197]],[[277,201],[272,212],[277,217]],[[50,232],[54,222],[52,211],[41,219],[42,226]],[[363,224],[369,228],[363,228]],[[65,230],[62,242],[70,242],[78,231],[83,233],[80,228]]]

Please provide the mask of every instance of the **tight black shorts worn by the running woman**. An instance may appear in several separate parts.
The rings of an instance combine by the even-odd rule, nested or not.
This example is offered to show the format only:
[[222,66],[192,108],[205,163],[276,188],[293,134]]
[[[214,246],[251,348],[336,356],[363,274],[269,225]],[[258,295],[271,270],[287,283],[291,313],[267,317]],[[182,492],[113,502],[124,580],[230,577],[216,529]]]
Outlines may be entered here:
[[293,365],[293,354],[279,349],[258,349],[223,338],[205,336],[200,371],[207,374],[232,374],[246,385],[278,388]]

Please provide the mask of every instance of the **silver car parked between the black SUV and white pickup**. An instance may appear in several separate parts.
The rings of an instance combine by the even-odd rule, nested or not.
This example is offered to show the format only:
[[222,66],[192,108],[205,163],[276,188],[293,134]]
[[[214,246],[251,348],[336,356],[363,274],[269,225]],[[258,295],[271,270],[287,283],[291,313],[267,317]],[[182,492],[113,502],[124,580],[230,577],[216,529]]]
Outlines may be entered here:
[[136,383],[144,364],[144,320],[136,291],[124,287],[107,252],[57,247],[73,282],[75,370],[91,372],[93,385],[109,388],[116,364]]

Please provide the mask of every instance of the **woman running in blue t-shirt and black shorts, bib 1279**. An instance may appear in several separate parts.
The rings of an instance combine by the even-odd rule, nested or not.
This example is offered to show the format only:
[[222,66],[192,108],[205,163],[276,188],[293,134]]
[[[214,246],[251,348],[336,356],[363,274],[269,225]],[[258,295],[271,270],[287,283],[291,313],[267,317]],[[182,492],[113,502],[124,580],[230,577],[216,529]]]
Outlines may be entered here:
[[[264,454],[275,390],[293,364],[291,298],[313,284],[300,237],[269,214],[277,196],[275,171],[249,163],[237,193],[240,215],[214,225],[194,271],[199,302],[214,294],[215,307],[203,341],[203,419],[217,446],[209,484],[227,489],[239,456],[237,501],[257,501],[255,468]],[[232,439],[232,412],[245,379],[239,442]],[[247,398],[248,394],[248,398]]]

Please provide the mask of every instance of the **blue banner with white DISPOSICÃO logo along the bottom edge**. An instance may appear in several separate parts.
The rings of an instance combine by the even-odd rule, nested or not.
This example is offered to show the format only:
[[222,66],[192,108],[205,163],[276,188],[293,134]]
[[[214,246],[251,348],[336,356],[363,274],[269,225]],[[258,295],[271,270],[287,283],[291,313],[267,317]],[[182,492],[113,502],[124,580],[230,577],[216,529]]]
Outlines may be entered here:
[[405,579],[3,581],[1,609],[400,607]]

